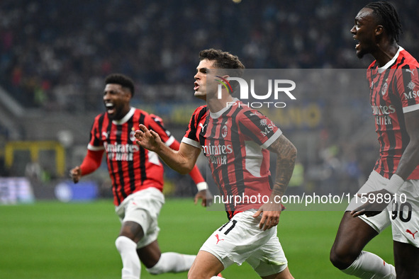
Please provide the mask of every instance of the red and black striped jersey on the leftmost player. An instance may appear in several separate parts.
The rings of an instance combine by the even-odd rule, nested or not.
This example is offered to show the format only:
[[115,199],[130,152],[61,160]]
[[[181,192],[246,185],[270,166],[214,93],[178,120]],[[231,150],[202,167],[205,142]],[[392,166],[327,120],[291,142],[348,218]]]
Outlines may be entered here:
[[96,116],[91,127],[88,149],[106,152],[112,181],[113,203],[120,205],[130,194],[148,187],[163,189],[163,166],[155,152],[135,144],[135,130],[142,123],[160,135],[170,146],[170,135],[162,120],[138,108],[131,108],[121,120],[110,120],[107,113]]

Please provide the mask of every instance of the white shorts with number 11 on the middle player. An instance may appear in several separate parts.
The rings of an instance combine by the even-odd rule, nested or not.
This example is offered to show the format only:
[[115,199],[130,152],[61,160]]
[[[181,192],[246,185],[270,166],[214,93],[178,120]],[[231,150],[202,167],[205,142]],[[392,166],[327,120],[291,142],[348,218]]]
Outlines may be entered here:
[[247,261],[261,277],[284,271],[288,262],[276,237],[276,226],[266,231],[259,229],[262,217],[252,217],[255,212],[236,214],[213,232],[200,250],[216,256],[224,268]]

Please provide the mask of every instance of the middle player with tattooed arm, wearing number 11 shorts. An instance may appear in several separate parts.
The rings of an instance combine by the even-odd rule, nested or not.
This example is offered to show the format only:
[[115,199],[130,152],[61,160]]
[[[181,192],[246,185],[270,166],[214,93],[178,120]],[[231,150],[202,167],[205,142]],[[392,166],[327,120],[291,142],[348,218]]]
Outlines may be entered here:
[[[195,96],[207,106],[195,110],[179,151],[167,148],[157,132],[145,125],[135,134],[138,144],[159,154],[180,173],[192,169],[202,150],[225,200],[231,195],[261,195],[269,200],[225,203],[229,221],[203,244],[188,278],[211,278],[244,261],[262,278],[293,278],[276,237],[276,225],[281,215],[279,200],[294,169],[296,148],[269,118],[233,98],[228,86],[220,89],[218,98],[218,84],[213,80],[228,78],[228,71],[223,69],[242,72],[244,66],[238,57],[210,49],[201,51],[199,59]],[[235,86],[233,81],[230,84]],[[269,152],[277,156],[274,183],[269,182]]]

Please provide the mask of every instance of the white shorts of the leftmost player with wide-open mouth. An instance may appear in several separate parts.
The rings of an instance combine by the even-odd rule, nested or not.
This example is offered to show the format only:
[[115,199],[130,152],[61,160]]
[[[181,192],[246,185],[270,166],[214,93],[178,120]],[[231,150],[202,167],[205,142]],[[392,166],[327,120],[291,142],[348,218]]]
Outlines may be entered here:
[[115,208],[121,223],[132,221],[143,228],[144,237],[138,241],[137,248],[143,248],[157,239],[160,228],[157,224],[160,210],[164,204],[164,195],[157,188],[150,187],[128,195]]

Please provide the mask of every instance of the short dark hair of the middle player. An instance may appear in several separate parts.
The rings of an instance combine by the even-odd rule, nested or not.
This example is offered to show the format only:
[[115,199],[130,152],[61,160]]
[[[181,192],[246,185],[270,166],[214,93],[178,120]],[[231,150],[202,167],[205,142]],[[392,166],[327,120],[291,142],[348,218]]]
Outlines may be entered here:
[[[233,71],[228,71],[228,73],[234,76],[242,76],[245,69],[245,65],[242,64],[238,56],[223,50],[215,50],[213,48],[201,50],[199,52],[199,61],[203,59],[213,61],[214,67],[217,69],[233,69]],[[230,81],[230,85],[234,90],[238,88],[239,84],[238,81]]]

